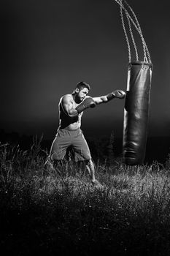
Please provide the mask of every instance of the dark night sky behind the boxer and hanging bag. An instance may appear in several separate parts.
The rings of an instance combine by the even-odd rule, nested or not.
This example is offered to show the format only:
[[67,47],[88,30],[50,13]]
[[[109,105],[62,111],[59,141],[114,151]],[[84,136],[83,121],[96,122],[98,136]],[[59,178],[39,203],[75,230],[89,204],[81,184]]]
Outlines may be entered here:
[[[128,3],[137,15],[153,63],[148,135],[169,135],[168,1]],[[92,97],[126,90],[128,48],[115,1],[3,0],[0,12],[0,110],[5,131],[43,132],[45,138],[53,138],[58,101],[80,80],[90,83]],[[142,49],[135,30],[134,37]],[[139,57],[143,61],[142,54]],[[124,102],[115,99],[85,111],[83,131],[102,135],[114,129],[121,136]]]

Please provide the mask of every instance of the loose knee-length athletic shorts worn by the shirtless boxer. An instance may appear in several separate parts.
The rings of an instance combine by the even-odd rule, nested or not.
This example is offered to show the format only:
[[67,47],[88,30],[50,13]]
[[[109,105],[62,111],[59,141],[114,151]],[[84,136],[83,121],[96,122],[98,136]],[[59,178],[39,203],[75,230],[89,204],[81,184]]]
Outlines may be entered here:
[[59,129],[50,149],[50,158],[63,159],[70,146],[74,150],[76,162],[91,159],[88,143],[80,128],[76,130]]

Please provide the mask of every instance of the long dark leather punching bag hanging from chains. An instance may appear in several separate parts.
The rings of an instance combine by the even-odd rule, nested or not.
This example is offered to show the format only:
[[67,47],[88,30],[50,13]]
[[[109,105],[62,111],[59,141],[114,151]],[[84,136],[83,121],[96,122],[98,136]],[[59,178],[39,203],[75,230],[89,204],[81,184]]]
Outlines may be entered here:
[[147,143],[152,64],[128,64],[127,91],[123,123],[123,162],[142,165]]

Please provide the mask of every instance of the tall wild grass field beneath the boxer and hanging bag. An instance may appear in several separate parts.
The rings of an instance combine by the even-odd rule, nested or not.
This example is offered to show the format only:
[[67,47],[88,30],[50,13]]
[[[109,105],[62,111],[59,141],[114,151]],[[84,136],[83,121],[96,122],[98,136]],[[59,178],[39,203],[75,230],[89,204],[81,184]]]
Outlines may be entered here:
[[0,144],[0,248],[3,255],[170,255],[170,157],[128,166],[64,162],[44,168],[47,152]]

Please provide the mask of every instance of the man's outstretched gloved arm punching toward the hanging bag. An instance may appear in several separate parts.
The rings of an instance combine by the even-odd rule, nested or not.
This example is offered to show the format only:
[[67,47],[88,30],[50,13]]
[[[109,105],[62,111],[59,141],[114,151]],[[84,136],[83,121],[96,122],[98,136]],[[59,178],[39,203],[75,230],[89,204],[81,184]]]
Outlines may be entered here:
[[101,103],[107,103],[109,102],[111,99],[124,99],[125,98],[125,91],[122,90],[115,90],[112,91],[111,93],[104,95],[104,96],[100,96],[100,97],[93,97],[93,100],[96,104],[101,104]]

